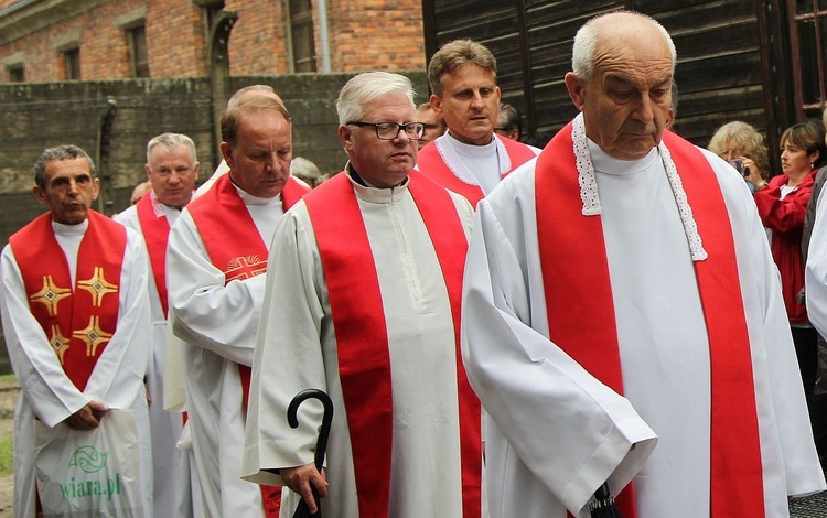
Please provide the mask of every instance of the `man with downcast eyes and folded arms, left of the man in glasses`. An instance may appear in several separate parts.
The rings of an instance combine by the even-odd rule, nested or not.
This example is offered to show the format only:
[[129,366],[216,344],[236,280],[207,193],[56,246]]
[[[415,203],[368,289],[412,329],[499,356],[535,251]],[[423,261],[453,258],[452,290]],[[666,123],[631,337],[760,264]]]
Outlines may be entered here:
[[183,341],[193,498],[208,516],[275,516],[281,488],[243,481],[250,365],[268,246],[283,212],[308,191],[290,176],[291,121],[254,95],[222,117],[229,172],[191,202],[172,227],[167,288]]

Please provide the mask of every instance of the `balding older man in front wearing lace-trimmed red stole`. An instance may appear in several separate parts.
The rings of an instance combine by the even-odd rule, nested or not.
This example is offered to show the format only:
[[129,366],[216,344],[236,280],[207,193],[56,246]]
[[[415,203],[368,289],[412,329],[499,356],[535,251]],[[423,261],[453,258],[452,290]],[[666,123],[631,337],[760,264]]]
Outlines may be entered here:
[[665,128],[648,17],[574,37],[581,111],[477,206],[463,358],[492,518],[785,517],[825,489],[778,273],[743,179]]

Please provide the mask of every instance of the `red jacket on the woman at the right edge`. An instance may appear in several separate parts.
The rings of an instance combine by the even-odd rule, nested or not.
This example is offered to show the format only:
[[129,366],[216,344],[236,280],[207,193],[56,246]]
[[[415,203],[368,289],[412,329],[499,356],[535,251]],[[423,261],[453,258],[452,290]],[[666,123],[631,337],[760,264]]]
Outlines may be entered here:
[[755,192],[755,205],[761,222],[772,230],[770,248],[781,272],[781,290],[791,324],[809,322],[807,309],[798,303],[798,292],[804,287],[802,229],[816,171],[807,174],[795,191],[784,196],[784,199],[781,199],[781,187],[790,180],[786,174],[774,176],[767,187]]

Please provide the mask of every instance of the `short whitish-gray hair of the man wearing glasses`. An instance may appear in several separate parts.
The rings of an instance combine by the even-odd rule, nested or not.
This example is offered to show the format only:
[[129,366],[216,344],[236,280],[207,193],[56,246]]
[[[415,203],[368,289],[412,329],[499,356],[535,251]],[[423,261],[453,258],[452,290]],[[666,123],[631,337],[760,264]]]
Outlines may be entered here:
[[359,120],[366,104],[387,94],[406,95],[410,99],[411,108],[416,109],[414,85],[404,75],[391,72],[365,72],[353,76],[342,87],[336,99],[339,123],[346,125],[350,121]]

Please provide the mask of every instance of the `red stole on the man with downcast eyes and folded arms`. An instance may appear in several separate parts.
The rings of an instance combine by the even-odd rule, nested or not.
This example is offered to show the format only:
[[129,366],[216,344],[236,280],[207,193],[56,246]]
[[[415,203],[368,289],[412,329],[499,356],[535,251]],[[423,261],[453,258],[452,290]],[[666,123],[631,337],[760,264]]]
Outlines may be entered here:
[[[281,190],[283,209],[287,212],[308,191],[290,176]],[[261,240],[256,223],[229,174],[221,176],[206,193],[190,203],[187,209],[198,227],[210,261],[224,272],[225,285],[236,279],[249,279],[267,272],[268,245]],[[238,374],[241,378],[241,403],[246,409],[251,369],[239,364]],[[279,516],[280,490],[280,487],[261,486],[266,516]]]

